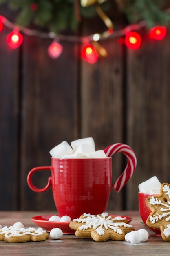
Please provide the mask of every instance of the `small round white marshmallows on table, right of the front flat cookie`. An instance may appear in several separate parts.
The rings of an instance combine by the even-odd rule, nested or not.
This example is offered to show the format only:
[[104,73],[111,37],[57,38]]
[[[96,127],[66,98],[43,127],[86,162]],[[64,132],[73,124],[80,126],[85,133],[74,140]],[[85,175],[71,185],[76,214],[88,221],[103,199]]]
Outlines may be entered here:
[[138,231],[131,231],[125,235],[126,242],[132,244],[138,244],[140,242],[145,242],[148,240],[149,234],[146,229],[139,229]]

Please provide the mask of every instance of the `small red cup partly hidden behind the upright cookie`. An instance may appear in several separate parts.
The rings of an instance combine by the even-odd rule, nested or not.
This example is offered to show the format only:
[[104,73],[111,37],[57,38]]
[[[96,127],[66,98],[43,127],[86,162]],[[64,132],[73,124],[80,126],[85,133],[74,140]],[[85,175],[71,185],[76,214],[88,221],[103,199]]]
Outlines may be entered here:
[[146,194],[146,193],[138,193],[138,202],[139,202],[139,213],[141,215],[141,219],[143,220],[144,224],[146,225],[146,227],[148,227],[150,230],[152,230],[153,232],[155,232],[155,234],[157,236],[161,236],[161,231],[160,229],[154,229],[152,227],[149,227],[146,224],[146,220],[148,218],[148,216],[150,215],[151,211],[150,209],[147,207],[146,205],[146,198],[152,196],[152,195],[158,195],[158,194]]

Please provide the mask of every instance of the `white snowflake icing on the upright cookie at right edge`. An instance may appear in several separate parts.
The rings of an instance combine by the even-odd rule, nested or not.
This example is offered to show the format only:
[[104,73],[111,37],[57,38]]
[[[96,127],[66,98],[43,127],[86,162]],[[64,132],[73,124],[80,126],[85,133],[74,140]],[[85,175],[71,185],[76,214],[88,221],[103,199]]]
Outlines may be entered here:
[[[163,186],[163,191],[165,191],[166,195],[168,195],[168,197],[170,198],[170,187],[167,185]],[[154,198],[154,196],[152,196],[150,198],[150,204],[152,205],[161,205],[163,206],[162,208],[160,208],[160,211],[163,214],[159,214],[156,213],[153,216],[150,216],[149,220],[154,224],[155,222],[161,220],[162,218],[168,216],[165,220],[168,221],[169,223],[166,225],[167,228],[164,229],[163,234],[168,237],[170,236],[170,201],[167,201],[166,203],[161,202],[160,199]]]

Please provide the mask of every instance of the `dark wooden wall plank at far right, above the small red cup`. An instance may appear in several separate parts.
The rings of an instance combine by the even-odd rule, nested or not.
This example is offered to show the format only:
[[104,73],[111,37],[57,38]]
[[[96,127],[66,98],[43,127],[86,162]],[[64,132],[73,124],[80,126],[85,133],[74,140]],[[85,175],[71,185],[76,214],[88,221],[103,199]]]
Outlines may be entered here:
[[138,209],[138,184],[157,176],[170,182],[170,34],[161,42],[145,40],[127,60],[127,143],[137,155],[127,185],[128,209]]

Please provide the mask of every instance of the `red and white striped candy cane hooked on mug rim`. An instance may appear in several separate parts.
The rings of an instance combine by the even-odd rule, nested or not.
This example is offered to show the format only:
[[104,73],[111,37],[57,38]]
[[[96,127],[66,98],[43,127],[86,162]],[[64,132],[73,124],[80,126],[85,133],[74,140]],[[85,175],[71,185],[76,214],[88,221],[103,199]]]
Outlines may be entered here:
[[137,159],[136,159],[134,151],[132,150],[132,148],[130,148],[126,144],[116,143],[116,144],[110,145],[104,149],[104,153],[106,154],[106,157],[110,157],[113,154],[118,153],[118,152],[121,152],[124,155],[126,155],[128,162],[127,162],[124,172],[120,175],[120,177],[112,185],[113,189],[116,192],[119,192],[126,185],[126,183],[130,180],[133,173],[135,172],[135,168],[136,168],[136,164],[137,164]]

